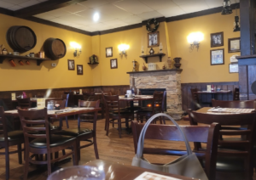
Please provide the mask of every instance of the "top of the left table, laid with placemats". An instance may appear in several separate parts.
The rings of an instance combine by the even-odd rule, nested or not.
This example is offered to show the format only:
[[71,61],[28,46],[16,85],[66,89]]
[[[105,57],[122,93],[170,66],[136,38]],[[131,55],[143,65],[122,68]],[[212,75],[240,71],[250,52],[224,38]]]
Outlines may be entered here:
[[[32,108],[37,109],[37,108]],[[102,110],[101,108],[66,108],[63,110],[47,110],[47,114],[49,117],[65,117],[67,115],[78,115],[89,112],[96,112],[98,110]],[[4,111],[4,115],[17,116],[18,110],[6,110]]]

